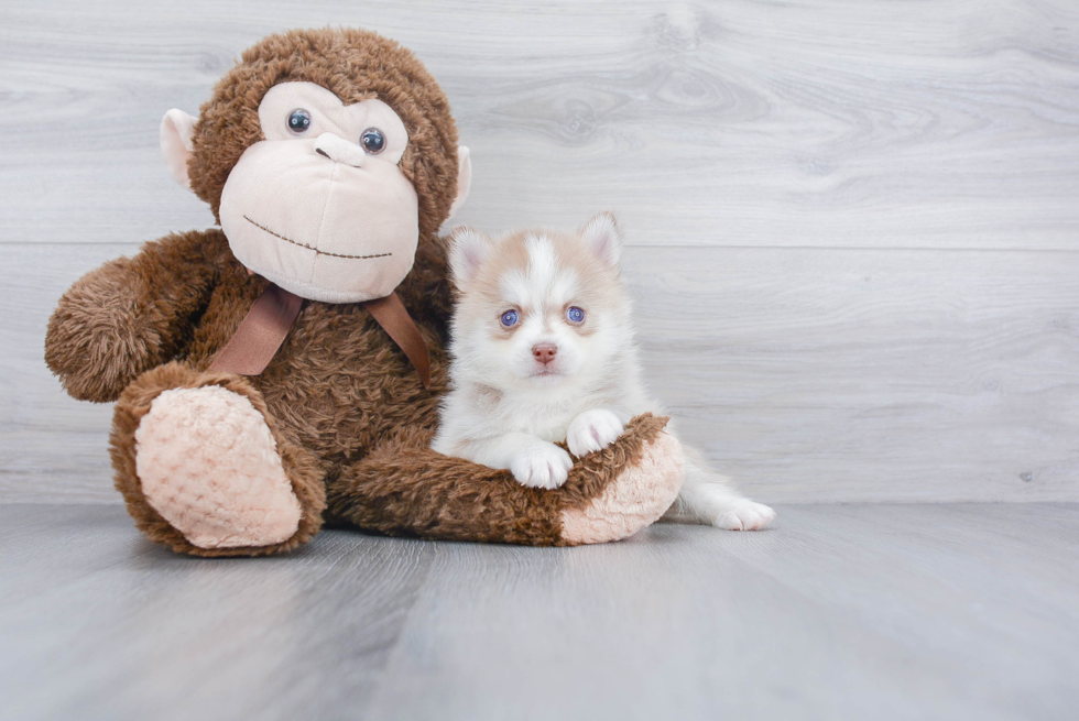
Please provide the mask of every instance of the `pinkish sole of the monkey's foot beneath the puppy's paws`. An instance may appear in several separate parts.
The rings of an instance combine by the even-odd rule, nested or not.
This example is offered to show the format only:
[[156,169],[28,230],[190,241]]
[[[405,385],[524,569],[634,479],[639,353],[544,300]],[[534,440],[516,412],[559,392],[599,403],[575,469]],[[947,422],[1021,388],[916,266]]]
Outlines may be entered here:
[[599,495],[563,511],[562,540],[566,545],[625,538],[671,507],[682,489],[685,461],[682,445],[662,430],[662,423],[641,447],[640,457],[625,463]]

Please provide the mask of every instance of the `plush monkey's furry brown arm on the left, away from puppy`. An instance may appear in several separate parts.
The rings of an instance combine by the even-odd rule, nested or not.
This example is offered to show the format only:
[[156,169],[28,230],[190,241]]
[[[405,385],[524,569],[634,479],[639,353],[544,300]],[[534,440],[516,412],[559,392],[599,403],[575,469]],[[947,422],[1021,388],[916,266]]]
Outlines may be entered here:
[[141,373],[183,351],[227,252],[220,232],[192,231],[90,271],[48,320],[50,370],[80,401],[115,401]]

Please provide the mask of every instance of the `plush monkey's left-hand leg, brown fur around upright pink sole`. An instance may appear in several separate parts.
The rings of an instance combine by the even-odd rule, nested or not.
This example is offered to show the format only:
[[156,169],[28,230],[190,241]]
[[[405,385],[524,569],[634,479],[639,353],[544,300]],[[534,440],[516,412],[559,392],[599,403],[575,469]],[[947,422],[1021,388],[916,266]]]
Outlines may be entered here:
[[110,452],[135,525],[178,553],[282,553],[321,526],[321,468],[239,375],[148,371],[117,402]]

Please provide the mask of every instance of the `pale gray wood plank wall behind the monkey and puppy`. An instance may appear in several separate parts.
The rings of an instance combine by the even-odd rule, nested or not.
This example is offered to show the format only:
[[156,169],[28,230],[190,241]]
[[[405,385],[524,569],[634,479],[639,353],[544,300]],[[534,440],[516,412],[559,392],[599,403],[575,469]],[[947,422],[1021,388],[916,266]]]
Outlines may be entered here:
[[1079,500],[1079,3],[0,6],[0,502],[116,502],[110,409],[45,321],[208,210],[165,110],[240,51],[359,25],[417,52],[472,149],[455,221],[619,212],[647,372],[764,501]]

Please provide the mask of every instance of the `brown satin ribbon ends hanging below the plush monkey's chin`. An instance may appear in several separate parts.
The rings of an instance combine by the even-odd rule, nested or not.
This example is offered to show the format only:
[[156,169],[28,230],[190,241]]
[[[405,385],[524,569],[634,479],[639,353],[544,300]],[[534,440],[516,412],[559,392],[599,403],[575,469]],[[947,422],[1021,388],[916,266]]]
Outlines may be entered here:
[[[211,371],[239,375],[259,375],[277,353],[281,343],[296,323],[304,299],[271,283],[254,302],[229,342],[210,364]],[[430,358],[427,345],[408,310],[396,293],[363,304],[375,323],[382,326],[419,373],[425,389],[430,389]]]

